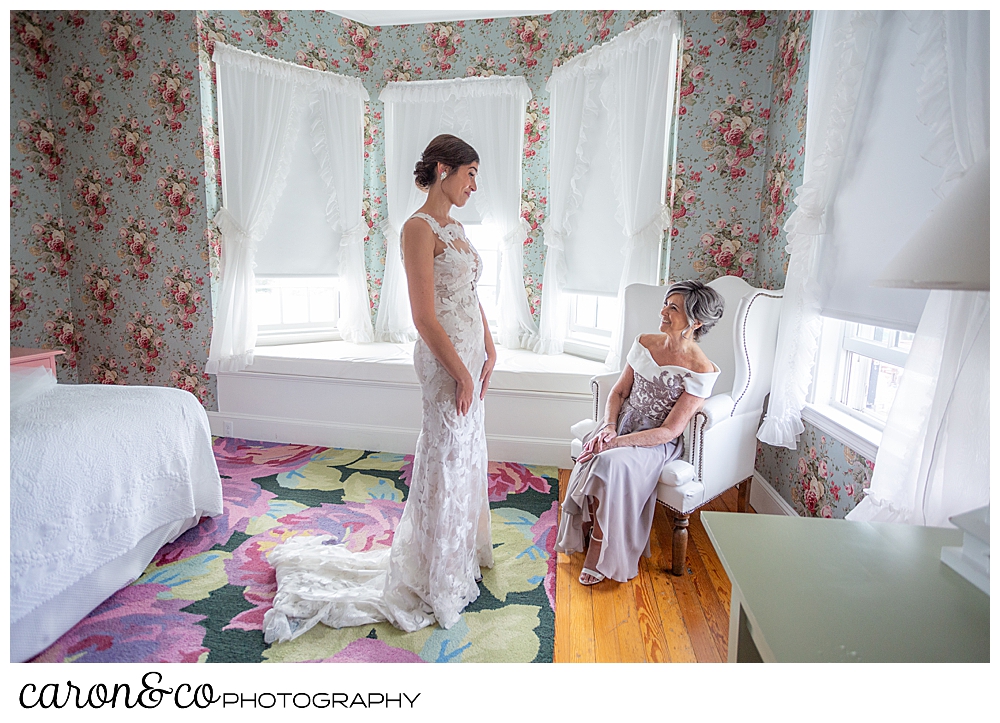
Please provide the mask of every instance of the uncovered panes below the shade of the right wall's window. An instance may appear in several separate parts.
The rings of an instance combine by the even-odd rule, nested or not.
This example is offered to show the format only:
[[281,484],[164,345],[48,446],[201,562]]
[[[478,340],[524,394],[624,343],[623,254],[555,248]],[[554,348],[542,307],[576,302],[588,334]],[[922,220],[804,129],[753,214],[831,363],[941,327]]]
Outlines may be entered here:
[[844,430],[825,422],[846,429],[848,437],[860,436],[865,441],[850,446],[873,454],[912,343],[910,332],[824,317],[807,407],[811,413],[804,416],[842,441],[847,441],[840,434]]

